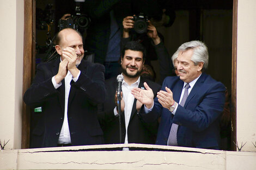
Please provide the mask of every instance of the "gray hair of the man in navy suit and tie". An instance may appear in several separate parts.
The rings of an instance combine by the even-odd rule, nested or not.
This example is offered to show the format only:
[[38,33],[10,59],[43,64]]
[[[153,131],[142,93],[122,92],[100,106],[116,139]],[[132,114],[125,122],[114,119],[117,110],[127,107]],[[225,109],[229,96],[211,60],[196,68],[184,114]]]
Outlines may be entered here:
[[199,62],[203,62],[204,66],[202,71],[205,71],[206,68],[208,67],[209,54],[208,48],[201,41],[190,41],[183,43],[172,56],[173,65],[174,60],[178,58],[179,52],[184,52],[188,49],[194,49],[193,55],[191,57],[191,60],[194,62],[194,65],[198,65]]

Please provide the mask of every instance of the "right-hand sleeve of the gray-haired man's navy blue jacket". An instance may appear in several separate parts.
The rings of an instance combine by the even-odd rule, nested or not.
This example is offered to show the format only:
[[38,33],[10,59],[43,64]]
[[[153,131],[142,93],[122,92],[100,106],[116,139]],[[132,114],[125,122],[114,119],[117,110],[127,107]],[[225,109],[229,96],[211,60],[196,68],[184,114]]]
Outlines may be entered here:
[[[222,83],[214,83],[203,96],[195,95],[186,109],[178,105],[173,123],[192,129],[203,131],[220,117],[225,102],[225,87]],[[189,109],[189,108],[196,109]]]

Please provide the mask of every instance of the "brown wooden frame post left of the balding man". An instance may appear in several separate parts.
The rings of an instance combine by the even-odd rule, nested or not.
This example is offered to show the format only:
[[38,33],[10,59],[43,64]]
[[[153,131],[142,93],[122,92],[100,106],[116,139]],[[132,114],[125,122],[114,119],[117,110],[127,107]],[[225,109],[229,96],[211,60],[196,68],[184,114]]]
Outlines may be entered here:
[[[22,95],[31,85],[35,74],[35,0],[24,0],[23,40],[23,86]],[[21,148],[29,148],[31,109],[22,103]]]

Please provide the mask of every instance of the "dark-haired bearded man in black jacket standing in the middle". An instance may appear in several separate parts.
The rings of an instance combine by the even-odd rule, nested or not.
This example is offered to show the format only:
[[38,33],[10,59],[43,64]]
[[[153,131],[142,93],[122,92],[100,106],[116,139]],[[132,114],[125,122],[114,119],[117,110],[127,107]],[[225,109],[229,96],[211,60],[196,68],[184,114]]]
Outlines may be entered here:
[[[159,84],[143,79],[142,73],[145,60],[144,47],[135,41],[127,42],[121,55],[121,69],[124,76],[121,99],[121,143],[148,143],[154,144],[157,133],[157,120],[153,123],[145,123],[138,115],[142,103],[138,102],[131,89],[133,87],[144,88],[143,83],[150,84],[156,92],[161,89]],[[107,99],[103,105],[99,105],[99,117],[104,132],[105,143],[120,143],[119,117],[117,111],[117,80],[106,80]],[[124,148],[124,150],[127,148]]]

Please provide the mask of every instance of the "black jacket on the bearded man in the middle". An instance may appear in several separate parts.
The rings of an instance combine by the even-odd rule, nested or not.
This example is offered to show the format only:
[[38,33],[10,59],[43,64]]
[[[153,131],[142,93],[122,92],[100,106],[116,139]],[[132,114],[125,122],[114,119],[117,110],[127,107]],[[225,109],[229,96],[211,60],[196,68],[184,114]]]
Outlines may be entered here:
[[[141,78],[138,87],[144,87],[143,83],[151,87],[156,96],[156,92],[161,89],[159,84],[153,81]],[[107,100],[103,105],[99,105],[99,118],[101,119],[101,125],[104,133],[105,143],[113,144],[120,143],[119,139],[119,117],[114,116],[114,96],[117,90],[117,80],[115,78],[106,80],[107,89]],[[157,120],[152,123],[145,123],[141,117],[137,114],[136,110],[137,99],[133,102],[130,122],[128,126],[128,142],[129,143],[148,143],[154,144],[157,133]],[[121,132],[122,132],[122,143],[125,140],[125,117],[124,112],[121,113]]]

